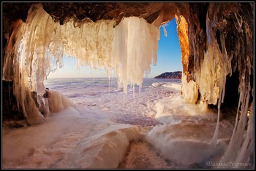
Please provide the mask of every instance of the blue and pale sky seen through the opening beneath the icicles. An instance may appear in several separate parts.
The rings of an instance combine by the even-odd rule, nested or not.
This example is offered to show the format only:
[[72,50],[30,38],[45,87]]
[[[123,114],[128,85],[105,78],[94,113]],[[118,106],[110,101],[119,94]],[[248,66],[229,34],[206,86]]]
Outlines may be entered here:
[[[182,71],[181,64],[181,47],[177,35],[177,25],[175,17],[170,20],[165,29],[167,37],[165,37],[164,28],[160,26],[160,39],[158,41],[157,65],[151,65],[151,72],[146,78],[154,78],[165,72]],[[108,77],[104,69],[90,69],[89,66],[80,66],[77,68],[76,58],[63,57],[64,66],[58,68],[48,75],[48,78],[80,78],[80,77]],[[115,76],[115,75],[113,75]]]

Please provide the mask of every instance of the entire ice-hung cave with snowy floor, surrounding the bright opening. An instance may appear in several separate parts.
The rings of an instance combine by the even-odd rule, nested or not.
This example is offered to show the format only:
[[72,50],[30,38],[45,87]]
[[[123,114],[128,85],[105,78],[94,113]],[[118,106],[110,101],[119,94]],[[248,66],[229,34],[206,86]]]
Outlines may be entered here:
[[[2,2],[1,7],[2,168],[121,168],[128,148],[146,149],[135,141],[154,148],[147,155],[175,163],[165,168],[254,168],[254,2]],[[154,104],[156,116],[167,114],[162,104],[173,105],[173,99],[215,109],[207,140],[191,139],[193,132],[190,139],[178,139],[170,130],[182,117],[176,124],[162,117],[162,124],[142,127],[116,124],[88,108],[80,109],[85,114],[80,116],[71,100],[45,89],[48,74],[61,68],[67,55],[77,58],[78,68],[116,73],[122,100],[129,85],[133,92],[135,85],[141,88],[143,74],[157,65],[159,27],[173,18],[181,87],[176,98]],[[220,121],[231,106],[233,127]],[[60,111],[62,116],[53,115]],[[187,127],[196,130],[200,121]],[[221,139],[225,129],[231,129],[230,137]]]

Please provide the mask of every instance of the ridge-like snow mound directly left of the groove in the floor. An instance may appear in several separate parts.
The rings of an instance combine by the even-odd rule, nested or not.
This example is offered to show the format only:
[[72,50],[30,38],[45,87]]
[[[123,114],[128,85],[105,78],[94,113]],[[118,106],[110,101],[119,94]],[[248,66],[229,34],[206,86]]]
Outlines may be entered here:
[[74,152],[79,159],[72,161],[72,165],[79,168],[117,168],[132,140],[141,140],[140,127],[127,126],[118,130],[110,130],[103,135],[81,140]]

